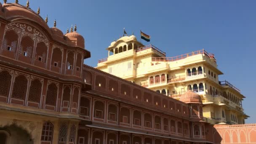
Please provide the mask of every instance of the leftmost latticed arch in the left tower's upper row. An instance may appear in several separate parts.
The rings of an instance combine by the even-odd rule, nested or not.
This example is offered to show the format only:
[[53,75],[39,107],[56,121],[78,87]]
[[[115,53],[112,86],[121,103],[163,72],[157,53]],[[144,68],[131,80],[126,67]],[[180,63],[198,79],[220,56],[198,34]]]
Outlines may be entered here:
[[17,46],[18,46],[19,36],[14,30],[8,30],[5,32],[5,37],[3,39],[3,51],[4,56],[8,56],[12,59],[15,59]]

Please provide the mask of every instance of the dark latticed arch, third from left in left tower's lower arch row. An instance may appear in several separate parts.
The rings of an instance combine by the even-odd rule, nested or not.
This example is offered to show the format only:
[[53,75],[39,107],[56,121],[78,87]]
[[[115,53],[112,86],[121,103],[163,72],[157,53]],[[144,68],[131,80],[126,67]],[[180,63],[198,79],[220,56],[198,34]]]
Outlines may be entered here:
[[41,91],[42,91],[42,83],[38,80],[32,80],[29,88],[29,101],[33,102],[40,102],[41,98]]

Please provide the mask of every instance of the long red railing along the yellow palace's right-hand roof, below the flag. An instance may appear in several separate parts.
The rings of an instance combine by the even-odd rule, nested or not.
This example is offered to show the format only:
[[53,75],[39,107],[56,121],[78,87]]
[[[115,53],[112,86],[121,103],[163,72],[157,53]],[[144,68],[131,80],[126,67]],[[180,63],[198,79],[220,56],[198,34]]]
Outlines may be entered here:
[[208,53],[204,49],[199,51],[193,51],[191,53],[182,54],[180,56],[174,56],[174,57],[152,57],[152,61],[178,61],[181,59],[185,59],[189,56],[195,56],[198,54],[205,54],[205,56],[211,59],[214,59],[214,61],[216,62],[216,59],[214,58],[214,54]]

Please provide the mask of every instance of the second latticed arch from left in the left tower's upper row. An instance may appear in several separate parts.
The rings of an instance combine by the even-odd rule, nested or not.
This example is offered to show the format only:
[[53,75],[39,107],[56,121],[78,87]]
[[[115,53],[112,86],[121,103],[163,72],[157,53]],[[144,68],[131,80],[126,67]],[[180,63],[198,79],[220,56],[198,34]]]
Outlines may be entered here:
[[29,36],[24,36],[21,38],[21,44],[19,48],[19,60],[31,63],[32,55],[34,49],[34,40]]

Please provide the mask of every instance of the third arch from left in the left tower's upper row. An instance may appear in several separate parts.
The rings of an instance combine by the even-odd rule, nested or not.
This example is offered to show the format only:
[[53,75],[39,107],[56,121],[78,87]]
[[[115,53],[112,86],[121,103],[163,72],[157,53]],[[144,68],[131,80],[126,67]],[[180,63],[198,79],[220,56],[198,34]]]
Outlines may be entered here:
[[40,67],[45,67],[47,61],[48,47],[44,42],[37,43],[35,50],[34,64]]

